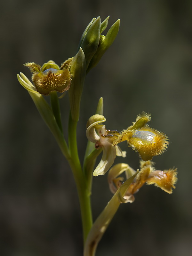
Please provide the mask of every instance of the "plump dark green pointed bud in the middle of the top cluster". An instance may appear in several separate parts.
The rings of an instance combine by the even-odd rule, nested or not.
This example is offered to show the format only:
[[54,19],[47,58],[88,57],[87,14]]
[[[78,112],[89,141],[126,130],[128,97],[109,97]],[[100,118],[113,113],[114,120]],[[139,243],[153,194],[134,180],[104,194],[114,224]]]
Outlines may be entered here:
[[100,17],[98,17],[91,24],[81,44],[81,48],[85,54],[86,67],[88,67],[90,60],[97,51],[97,47],[99,45],[100,40],[100,25],[101,21]]

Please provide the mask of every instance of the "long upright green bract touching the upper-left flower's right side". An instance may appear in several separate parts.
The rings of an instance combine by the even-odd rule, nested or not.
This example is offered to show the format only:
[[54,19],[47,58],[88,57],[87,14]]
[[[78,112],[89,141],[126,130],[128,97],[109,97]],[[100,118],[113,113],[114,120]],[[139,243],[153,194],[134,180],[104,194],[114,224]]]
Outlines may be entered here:
[[73,121],[78,121],[81,94],[86,76],[85,55],[81,47],[71,62],[70,73],[72,74],[71,86],[69,88],[71,117]]

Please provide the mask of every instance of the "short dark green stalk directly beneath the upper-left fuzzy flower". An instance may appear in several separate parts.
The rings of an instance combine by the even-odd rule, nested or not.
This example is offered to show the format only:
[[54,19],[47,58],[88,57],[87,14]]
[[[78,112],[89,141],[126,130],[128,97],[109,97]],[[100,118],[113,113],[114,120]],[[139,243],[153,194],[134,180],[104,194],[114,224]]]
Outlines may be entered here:
[[51,92],[50,98],[51,98],[51,108],[52,108],[53,114],[54,114],[56,122],[62,132],[61,112],[60,112],[60,104],[59,104],[57,92],[56,91]]

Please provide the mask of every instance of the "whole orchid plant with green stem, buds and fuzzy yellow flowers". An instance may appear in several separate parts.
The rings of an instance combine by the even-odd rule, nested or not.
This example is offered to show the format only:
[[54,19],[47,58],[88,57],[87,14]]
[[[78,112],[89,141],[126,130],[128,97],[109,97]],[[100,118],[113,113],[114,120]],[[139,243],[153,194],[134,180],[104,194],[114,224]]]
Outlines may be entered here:
[[[164,133],[148,126],[147,123],[151,120],[150,114],[142,112],[136,117],[136,121],[122,132],[109,130],[103,124],[106,118],[103,116],[102,98],[99,100],[96,111],[93,110],[93,115],[87,121],[84,132],[88,142],[83,166],[80,163],[76,129],[85,77],[90,69],[98,64],[119,30],[120,20],[117,20],[109,28],[106,36],[102,35],[108,26],[108,19],[109,17],[101,23],[100,17],[93,18],[84,30],[75,57],[64,61],[60,67],[52,60],[44,63],[42,67],[34,62],[27,62],[25,66],[32,73],[32,82],[23,73],[17,75],[20,84],[28,90],[73,172],[81,208],[84,256],[95,255],[97,245],[119,205],[126,202],[132,203],[135,199],[134,194],[145,183],[155,184],[165,192],[172,193],[177,180],[176,169],[156,170],[151,161],[153,156],[159,156],[166,150],[169,140]],[[70,99],[68,143],[63,135],[63,130],[66,132],[67,127],[63,129],[60,113],[62,96],[66,91]],[[50,97],[50,105],[44,95]],[[119,147],[119,143],[125,140],[141,158],[140,169],[137,171],[126,163],[112,167],[116,156],[126,157],[126,152]],[[95,166],[101,152],[100,163]],[[109,189],[114,196],[93,223],[90,200],[92,178],[107,172]],[[119,177],[122,173],[125,173],[126,177],[124,182],[123,177]]]

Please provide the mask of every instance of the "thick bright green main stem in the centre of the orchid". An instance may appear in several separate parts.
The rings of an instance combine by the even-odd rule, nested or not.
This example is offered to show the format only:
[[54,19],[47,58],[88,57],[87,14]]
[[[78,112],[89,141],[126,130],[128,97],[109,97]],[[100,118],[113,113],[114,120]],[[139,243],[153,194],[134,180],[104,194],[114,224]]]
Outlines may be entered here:
[[85,243],[87,235],[92,227],[92,210],[91,210],[90,193],[87,189],[86,178],[84,176],[84,173],[79,161],[79,156],[78,156],[77,141],[76,141],[76,127],[77,127],[77,121],[72,120],[71,113],[70,113],[68,140],[69,140],[69,151],[70,151],[71,159],[68,160],[68,162],[70,164],[70,167],[76,182],[79,203],[81,208],[84,243]]

